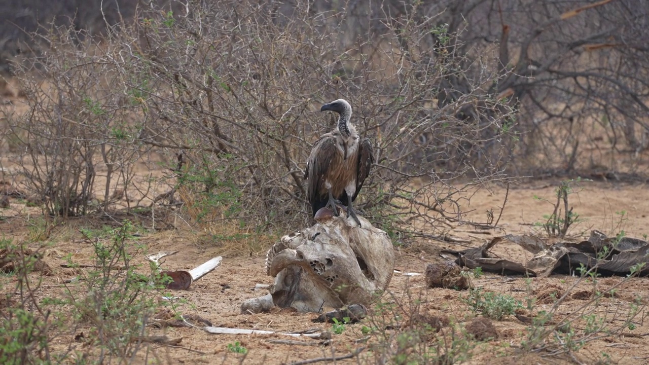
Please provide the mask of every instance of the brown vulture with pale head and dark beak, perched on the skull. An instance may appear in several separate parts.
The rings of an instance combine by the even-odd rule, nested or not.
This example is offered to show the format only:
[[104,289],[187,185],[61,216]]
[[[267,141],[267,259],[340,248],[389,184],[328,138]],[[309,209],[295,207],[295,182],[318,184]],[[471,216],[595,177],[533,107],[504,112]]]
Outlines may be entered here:
[[360,140],[356,128],[349,123],[352,107],[337,99],[320,108],[339,114],[338,125],[332,132],[320,136],[306,161],[304,179],[313,217],[320,208],[328,207],[338,215],[336,203],[347,207],[347,216],[354,218],[360,227],[352,201],[374,162],[374,149],[369,138]]

